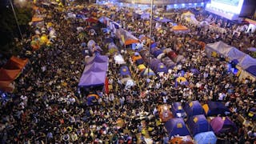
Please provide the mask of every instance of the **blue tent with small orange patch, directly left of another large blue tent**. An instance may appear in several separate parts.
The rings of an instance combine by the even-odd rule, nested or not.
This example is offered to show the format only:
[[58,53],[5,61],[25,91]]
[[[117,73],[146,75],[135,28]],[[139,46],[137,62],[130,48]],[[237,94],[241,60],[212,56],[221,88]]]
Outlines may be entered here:
[[169,137],[172,137],[174,135],[190,135],[190,131],[187,129],[185,122],[182,118],[171,118],[165,123],[165,127],[169,134]]

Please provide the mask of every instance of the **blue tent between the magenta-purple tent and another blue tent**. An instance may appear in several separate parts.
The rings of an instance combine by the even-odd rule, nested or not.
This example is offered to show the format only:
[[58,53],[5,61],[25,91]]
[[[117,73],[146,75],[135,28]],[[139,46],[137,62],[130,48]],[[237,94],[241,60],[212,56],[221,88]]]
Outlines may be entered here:
[[190,128],[190,133],[193,136],[202,132],[213,130],[210,123],[206,120],[206,117],[202,114],[190,117],[187,121],[187,125]]

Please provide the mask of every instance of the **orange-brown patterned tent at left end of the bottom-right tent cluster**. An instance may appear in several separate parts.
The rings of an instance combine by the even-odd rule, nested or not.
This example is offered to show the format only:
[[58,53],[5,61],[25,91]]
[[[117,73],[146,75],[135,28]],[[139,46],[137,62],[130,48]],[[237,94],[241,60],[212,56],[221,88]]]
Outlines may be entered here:
[[171,118],[174,118],[174,115],[170,111],[170,106],[169,105],[160,105],[158,106],[158,112],[159,112],[159,117],[162,122],[167,122]]

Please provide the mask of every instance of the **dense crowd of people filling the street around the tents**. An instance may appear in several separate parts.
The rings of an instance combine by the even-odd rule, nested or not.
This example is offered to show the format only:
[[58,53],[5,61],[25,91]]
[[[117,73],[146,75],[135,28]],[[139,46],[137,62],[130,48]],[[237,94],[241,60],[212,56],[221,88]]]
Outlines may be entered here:
[[[107,6],[103,8],[111,11]],[[102,47],[102,54],[106,54],[106,44],[102,39],[111,34],[103,34],[102,25],[97,24],[94,26],[97,31],[95,35],[78,38],[76,28],[91,25],[66,18],[67,11],[78,13],[78,9],[46,9],[49,9],[45,11],[46,15],[50,13],[52,17],[44,21],[54,23],[58,35],[53,46],[42,47],[30,55],[20,55],[30,58],[30,63],[17,79],[14,91],[17,97],[0,110],[2,143],[145,143],[147,138],[151,138],[154,143],[168,143],[170,138],[159,120],[158,106],[171,102],[184,104],[192,100],[202,104],[208,100],[223,102],[232,111],[230,118],[238,130],[219,134],[219,143],[254,143],[255,128],[244,126],[238,121],[238,115],[248,118],[250,108],[255,107],[255,82],[248,78],[241,80],[230,74],[222,58],[207,58],[203,47],[191,41],[195,39],[208,43],[222,40],[233,45],[232,29],[226,28],[226,34],[218,34],[184,22],[179,18],[183,10],[175,11],[177,14],[171,19],[188,26],[190,33],[174,34],[165,24],[162,29],[166,33],[159,34],[153,28],[152,35],[159,48],[171,48],[184,55],[186,60],[178,63],[179,66],[169,70],[168,74],[141,78],[138,77],[134,62],[130,60],[132,50],[126,49],[123,55],[137,85],[124,89],[117,77],[120,67],[110,56],[108,78],[113,88],[109,94],[91,88],[89,93],[98,94],[99,98],[94,105],[88,106],[86,95],[78,91],[78,81],[85,67],[81,43],[93,39]],[[97,10],[97,6],[94,6],[88,14]],[[120,16],[126,15],[127,10],[130,9],[118,9],[111,18],[120,21]],[[126,30],[149,34],[146,20],[131,17],[121,21],[125,23],[122,26]],[[133,27],[128,27],[129,24]],[[243,38],[255,46],[255,34],[240,34],[237,39],[241,47],[245,42]],[[123,49],[124,46],[115,42]],[[24,42],[24,46],[25,51],[30,50],[29,42]],[[200,74],[190,74],[187,77],[190,83],[188,86],[175,86],[174,78],[181,70],[190,73],[190,68],[198,69]],[[164,97],[162,92],[165,92]]]

